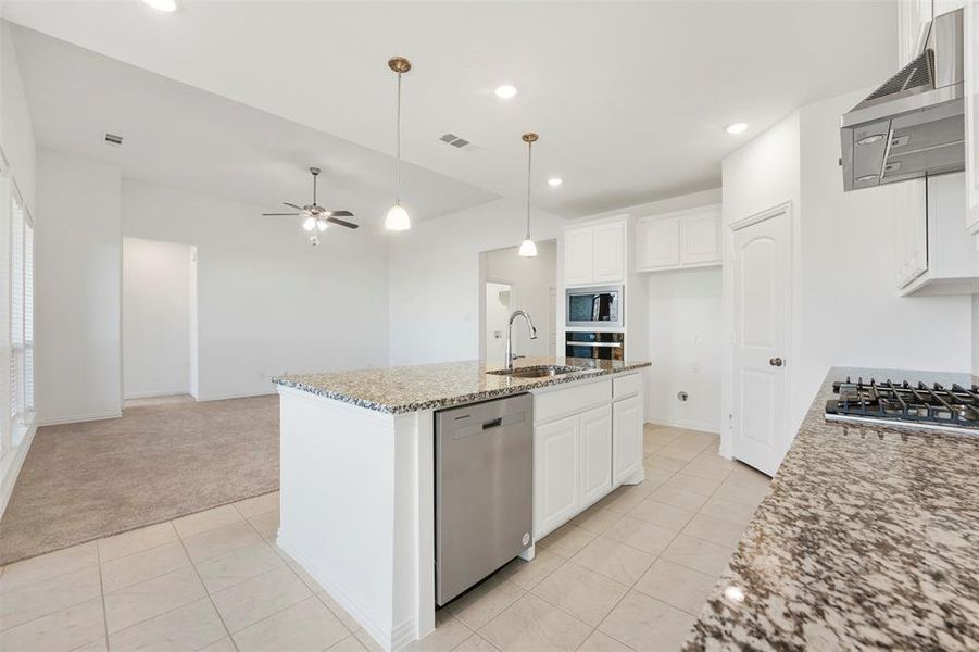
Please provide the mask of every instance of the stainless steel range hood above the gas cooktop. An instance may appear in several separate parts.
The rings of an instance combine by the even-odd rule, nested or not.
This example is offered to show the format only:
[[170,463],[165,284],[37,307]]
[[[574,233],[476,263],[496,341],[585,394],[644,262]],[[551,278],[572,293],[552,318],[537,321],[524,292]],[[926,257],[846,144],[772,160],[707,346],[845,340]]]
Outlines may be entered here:
[[920,40],[914,61],[843,114],[844,190],[965,170],[963,10]]

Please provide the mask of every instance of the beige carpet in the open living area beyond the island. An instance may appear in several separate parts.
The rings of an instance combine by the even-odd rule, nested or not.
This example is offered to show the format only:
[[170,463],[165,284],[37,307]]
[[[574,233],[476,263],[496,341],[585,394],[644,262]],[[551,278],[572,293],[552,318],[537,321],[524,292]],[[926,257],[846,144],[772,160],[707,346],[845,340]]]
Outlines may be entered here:
[[41,427],[0,521],[0,565],[275,491],[278,446],[277,396]]

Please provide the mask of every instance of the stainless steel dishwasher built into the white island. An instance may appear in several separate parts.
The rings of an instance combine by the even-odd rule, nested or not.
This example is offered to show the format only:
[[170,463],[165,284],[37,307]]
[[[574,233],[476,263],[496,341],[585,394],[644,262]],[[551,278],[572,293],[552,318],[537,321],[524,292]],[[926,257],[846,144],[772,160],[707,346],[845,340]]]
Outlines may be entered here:
[[534,523],[530,394],[436,413],[436,602],[526,550]]

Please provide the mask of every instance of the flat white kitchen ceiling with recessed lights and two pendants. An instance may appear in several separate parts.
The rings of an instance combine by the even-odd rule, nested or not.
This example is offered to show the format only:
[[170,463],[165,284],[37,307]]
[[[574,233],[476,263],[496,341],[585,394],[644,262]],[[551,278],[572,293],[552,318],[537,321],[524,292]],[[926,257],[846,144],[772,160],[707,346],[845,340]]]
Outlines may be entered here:
[[[461,181],[452,186],[459,203],[522,197],[520,134],[536,130],[536,204],[567,217],[717,187],[720,160],[741,143],[800,105],[879,83],[896,61],[895,3],[864,0],[180,0],[172,14],[136,1],[7,0],[4,17],[319,131],[323,148],[306,131],[306,150],[297,125],[289,127],[294,147],[279,147],[275,131],[263,139],[237,125],[221,142],[225,159],[243,150],[260,168],[299,174],[317,154],[340,179],[356,175],[347,150],[334,152],[327,143],[343,139],[350,147],[391,152],[394,77],[386,62],[406,55],[414,68],[404,79],[405,159]],[[28,93],[34,95],[29,77],[46,73],[25,74]],[[110,82],[101,84],[108,88]],[[518,95],[497,98],[492,91],[501,84],[514,85]],[[87,97],[95,93],[85,88],[77,86],[67,105],[81,100],[92,116],[101,110],[106,118],[127,118],[109,113],[113,95]],[[138,120],[152,120],[154,130],[170,123],[170,133],[181,131],[194,105],[180,111],[178,95],[168,100],[173,115],[153,109],[152,115],[129,115],[126,126],[139,129]],[[142,108],[151,104],[155,99]],[[65,105],[39,118],[41,139],[53,133],[52,122],[74,112]],[[223,120],[210,126],[221,130]],[[727,135],[725,125],[738,121],[749,123],[748,131]],[[476,147],[440,142],[447,131]],[[213,156],[219,165],[221,155]],[[154,163],[145,164],[146,173],[154,172]],[[388,164],[357,170],[367,174],[357,177],[361,183],[380,191],[391,183]],[[551,176],[564,185],[549,188]],[[405,195],[411,202],[429,201],[439,191],[431,183],[422,191],[406,177]],[[426,208],[432,214],[445,210]]]

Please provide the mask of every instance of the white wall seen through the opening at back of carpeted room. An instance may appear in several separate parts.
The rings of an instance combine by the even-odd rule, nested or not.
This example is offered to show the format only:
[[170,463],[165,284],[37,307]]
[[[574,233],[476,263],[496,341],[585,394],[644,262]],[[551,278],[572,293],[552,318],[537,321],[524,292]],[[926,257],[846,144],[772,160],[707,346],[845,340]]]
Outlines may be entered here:
[[123,396],[190,390],[190,246],[123,238]]

